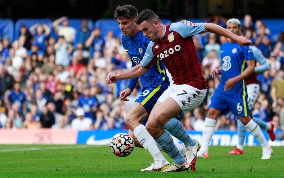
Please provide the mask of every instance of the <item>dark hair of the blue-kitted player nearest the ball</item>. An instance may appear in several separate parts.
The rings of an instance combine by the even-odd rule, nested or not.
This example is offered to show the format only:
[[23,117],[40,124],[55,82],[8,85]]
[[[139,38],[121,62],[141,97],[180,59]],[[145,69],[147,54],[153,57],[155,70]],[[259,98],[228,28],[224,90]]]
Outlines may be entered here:
[[125,6],[118,6],[114,11],[115,19],[125,17],[127,19],[137,18],[138,12],[134,6],[125,5]]

